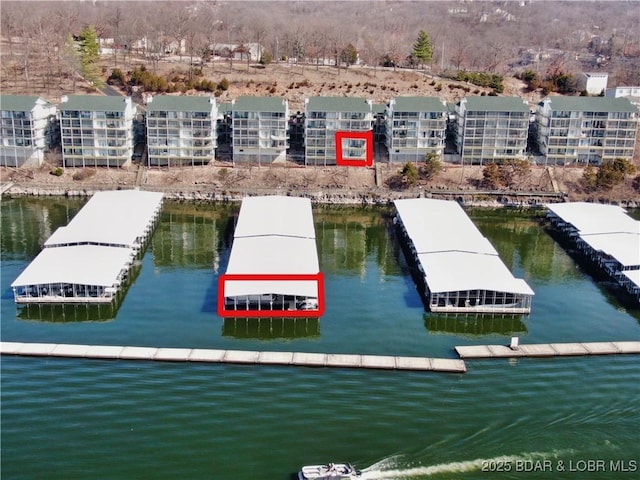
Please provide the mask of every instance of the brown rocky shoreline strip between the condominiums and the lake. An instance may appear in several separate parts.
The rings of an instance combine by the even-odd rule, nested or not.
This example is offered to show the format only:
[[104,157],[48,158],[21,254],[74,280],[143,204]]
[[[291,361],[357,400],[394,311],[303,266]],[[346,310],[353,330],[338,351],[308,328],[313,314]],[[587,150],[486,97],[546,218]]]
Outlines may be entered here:
[[256,195],[309,198],[319,205],[389,205],[404,198],[456,200],[479,207],[536,207],[546,203],[587,201],[640,208],[640,196],[630,182],[609,192],[587,194],[579,188],[581,169],[534,167],[511,188],[482,188],[482,168],[446,165],[434,181],[391,188],[397,165],[375,169],[235,168],[210,165],[174,170],[131,166],[122,169],[65,169],[53,175],[52,166],[37,169],[0,169],[0,193],[13,196],[88,197],[95,192],[139,188],[162,192],[166,199],[194,202],[239,202]]

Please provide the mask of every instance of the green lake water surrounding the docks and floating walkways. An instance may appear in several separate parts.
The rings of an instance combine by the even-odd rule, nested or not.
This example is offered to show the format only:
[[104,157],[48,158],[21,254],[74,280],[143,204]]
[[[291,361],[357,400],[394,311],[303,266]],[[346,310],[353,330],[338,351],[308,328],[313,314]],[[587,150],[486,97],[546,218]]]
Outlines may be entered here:
[[[319,321],[216,314],[238,205],[165,204],[117,310],[18,310],[10,283],[84,200],[3,199],[4,341],[455,358],[466,344],[640,339],[533,212],[470,210],[534,289],[520,318],[424,312],[383,208],[314,207]],[[637,215],[637,213],[636,213]],[[468,361],[465,374],[2,357],[2,477],[291,479],[350,461],[364,479],[638,478],[637,356]],[[497,470],[508,470],[498,472]]]

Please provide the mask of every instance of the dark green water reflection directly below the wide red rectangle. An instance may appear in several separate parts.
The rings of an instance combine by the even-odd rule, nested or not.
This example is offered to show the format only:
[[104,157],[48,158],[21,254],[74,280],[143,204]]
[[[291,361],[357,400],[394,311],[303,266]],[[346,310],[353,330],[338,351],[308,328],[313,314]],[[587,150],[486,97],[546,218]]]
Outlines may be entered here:
[[222,335],[232,338],[274,340],[320,336],[318,318],[225,318]]

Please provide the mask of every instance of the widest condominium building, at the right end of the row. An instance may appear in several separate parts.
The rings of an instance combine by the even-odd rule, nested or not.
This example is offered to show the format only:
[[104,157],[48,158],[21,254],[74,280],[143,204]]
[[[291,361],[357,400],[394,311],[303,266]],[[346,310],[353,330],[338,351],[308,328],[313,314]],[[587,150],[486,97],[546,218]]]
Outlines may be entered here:
[[538,104],[537,141],[551,165],[633,159],[638,109],[628,98],[547,97]]

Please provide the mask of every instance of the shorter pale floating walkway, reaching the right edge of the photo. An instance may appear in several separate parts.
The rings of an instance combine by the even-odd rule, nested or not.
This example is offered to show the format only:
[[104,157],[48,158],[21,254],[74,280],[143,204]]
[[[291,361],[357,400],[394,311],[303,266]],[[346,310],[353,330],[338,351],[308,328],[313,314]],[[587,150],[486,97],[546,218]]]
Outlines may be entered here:
[[539,343],[530,345],[466,345],[455,347],[462,359],[512,357],[568,357],[640,354],[640,342]]

